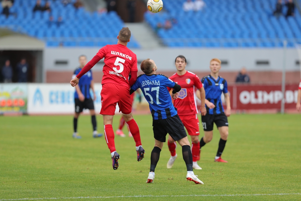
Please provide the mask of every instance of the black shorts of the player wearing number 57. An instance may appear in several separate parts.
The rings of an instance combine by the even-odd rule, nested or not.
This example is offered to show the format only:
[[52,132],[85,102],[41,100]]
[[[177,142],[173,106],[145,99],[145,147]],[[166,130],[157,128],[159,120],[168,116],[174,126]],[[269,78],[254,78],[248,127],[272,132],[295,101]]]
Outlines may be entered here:
[[153,120],[154,138],[166,142],[167,133],[173,140],[178,141],[187,137],[184,125],[178,115],[167,119]]

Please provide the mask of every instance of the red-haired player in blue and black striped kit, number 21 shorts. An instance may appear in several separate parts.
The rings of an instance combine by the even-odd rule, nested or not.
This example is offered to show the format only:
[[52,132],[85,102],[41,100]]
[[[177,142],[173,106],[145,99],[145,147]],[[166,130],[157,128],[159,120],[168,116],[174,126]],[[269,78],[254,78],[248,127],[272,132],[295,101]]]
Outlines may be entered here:
[[[228,118],[231,115],[230,96],[228,93],[227,81],[219,76],[221,69],[221,60],[214,58],[210,61],[211,73],[203,77],[202,83],[206,92],[206,109],[207,114],[202,116],[202,124],[204,129],[204,137],[200,140],[200,148],[209,143],[213,137],[213,123],[216,124],[221,135],[219,140],[219,148],[215,157],[215,162],[227,162],[221,158],[222,152],[228,138]],[[227,105],[226,111],[222,106],[221,95],[224,93]],[[200,94],[197,93],[200,98]]]

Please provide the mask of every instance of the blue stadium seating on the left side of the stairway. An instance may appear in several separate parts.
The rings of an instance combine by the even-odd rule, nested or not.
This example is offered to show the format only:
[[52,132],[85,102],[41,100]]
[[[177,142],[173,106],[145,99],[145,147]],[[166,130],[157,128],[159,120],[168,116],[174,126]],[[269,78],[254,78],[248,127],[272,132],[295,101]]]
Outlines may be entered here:
[[[0,15],[0,27],[41,39],[48,47],[115,44],[119,30],[124,27],[116,12],[91,13],[84,8],[74,8],[73,4],[64,6],[61,1],[49,2],[51,12],[33,12],[36,0],[15,0],[10,12],[17,15],[10,15],[8,18]],[[44,5],[45,1],[42,1],[42,6]],[[60,17],[62,20],[58,26]],[[140,45],[132,38],[128,47],[140,48]]]

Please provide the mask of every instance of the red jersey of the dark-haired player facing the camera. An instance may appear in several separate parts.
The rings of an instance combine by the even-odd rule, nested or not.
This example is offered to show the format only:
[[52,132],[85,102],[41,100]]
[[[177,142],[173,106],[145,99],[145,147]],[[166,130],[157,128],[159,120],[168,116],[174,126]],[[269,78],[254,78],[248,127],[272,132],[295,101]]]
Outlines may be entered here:
[[[177,73],[169,77],[172,81],[181,86],[179,98],[174,101],[174,106],[178,109],[178,115],[197,114],[197,102],[195,100],[195,91],[203,87],[203,84],[196,74],[187,71],[184,75]],[[168,88],[170,91],[170,88]]]

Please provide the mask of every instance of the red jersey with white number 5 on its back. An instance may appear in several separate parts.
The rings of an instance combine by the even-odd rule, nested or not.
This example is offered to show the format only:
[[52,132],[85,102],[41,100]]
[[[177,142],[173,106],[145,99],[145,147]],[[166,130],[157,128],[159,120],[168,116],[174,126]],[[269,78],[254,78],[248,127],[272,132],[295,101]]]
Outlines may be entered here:
[[96,55],[101,59],[104,58],[105,63],[102,69],[104,76],[101,84],[114,83],[129,86],[130,72],[138,72],[137,56],[124,45],[104,46]]

